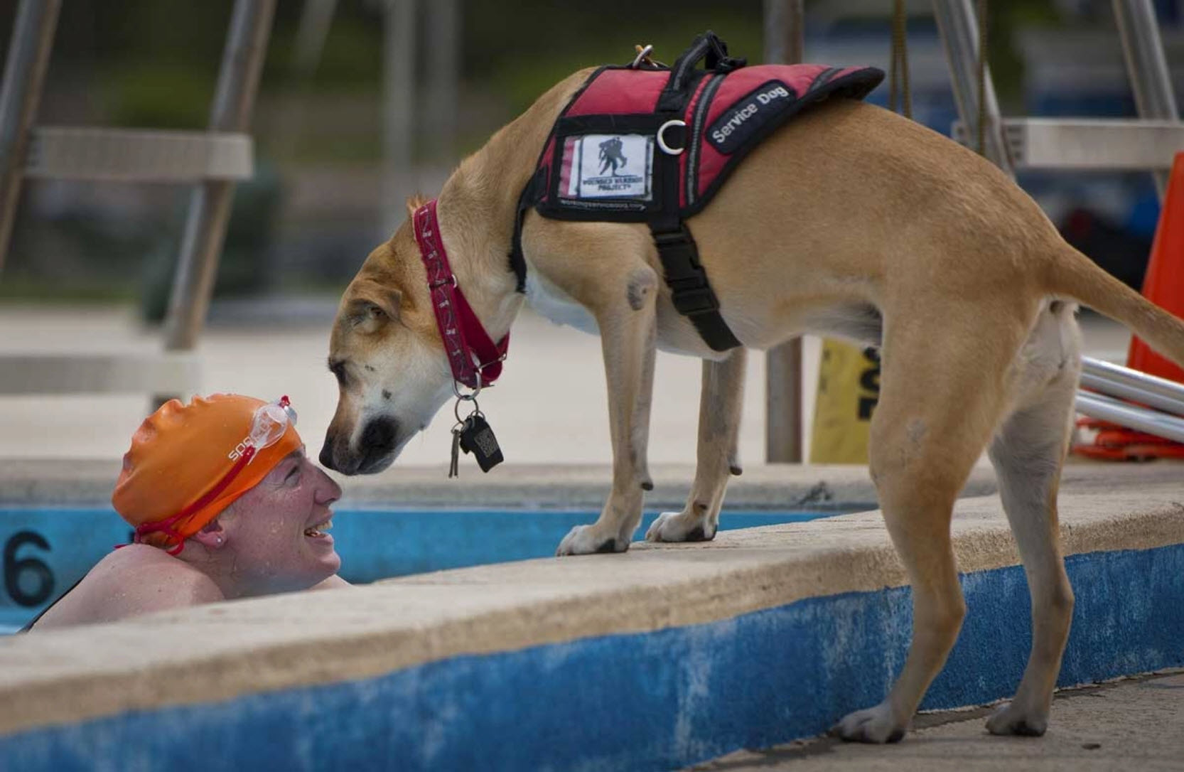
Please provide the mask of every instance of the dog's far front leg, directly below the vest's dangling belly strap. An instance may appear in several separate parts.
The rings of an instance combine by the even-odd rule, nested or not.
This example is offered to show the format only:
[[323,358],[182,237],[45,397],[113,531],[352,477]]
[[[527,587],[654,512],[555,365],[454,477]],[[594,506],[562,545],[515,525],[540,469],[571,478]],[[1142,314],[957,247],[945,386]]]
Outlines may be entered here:
[[732,349],[722,361],[703,360],[695,482],[683,510],[662,513],[645,533],[648,540],[707,541],[715,538],[723,491],[735,467],[747,362],[744,348]]

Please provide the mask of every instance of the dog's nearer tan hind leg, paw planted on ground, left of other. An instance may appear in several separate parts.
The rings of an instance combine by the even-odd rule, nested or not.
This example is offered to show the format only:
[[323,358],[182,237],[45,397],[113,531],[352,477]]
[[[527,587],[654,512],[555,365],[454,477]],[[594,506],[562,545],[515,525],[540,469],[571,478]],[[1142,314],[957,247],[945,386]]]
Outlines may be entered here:
[[953,504],[1005,408],[1009,365],[1027,332],[1018,323],[984,329],[986,309],[946,302],[931,310],[940,323],[894,326],[886,314],[869,437],[880,508],[912,585],[913,641],[888,697],[834,727],[845,740],[900,740],[958,637],[966,606],[950,536]]

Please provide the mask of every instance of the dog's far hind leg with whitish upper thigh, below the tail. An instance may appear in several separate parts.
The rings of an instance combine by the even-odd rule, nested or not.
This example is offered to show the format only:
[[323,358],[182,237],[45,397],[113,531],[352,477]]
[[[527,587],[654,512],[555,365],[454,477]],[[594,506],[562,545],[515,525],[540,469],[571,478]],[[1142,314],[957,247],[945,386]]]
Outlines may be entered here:
[[[1057,543],[1056,491],[1068,449],[1080,356],[1073,311],[1060,313],[1066,315],[1061,322],[1064,334],[1056,335],[1054,329],[1045,336],[1051,339],[1048,342],[1058,362],[1041,368],[1041,374],[1051,369],[1051,382],[1042,390],[1038,401],[1004,422],[990,448],[999,496],[1028,577],[1032,622],[1032,648],[1024,677],[1015,699],[987,720],[992,734],[1044,734],[1073,618],[1073,588]],[[1054,308],[1042,315],[1042,322],[1057,315]],[[1036,335],[1042,332],[1038,326]]]

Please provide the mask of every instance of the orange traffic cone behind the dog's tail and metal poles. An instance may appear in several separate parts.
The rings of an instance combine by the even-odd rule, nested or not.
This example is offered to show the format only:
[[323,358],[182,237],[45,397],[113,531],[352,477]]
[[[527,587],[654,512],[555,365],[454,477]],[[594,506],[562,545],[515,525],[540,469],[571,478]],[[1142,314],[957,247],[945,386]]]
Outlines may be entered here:
[[[1184,153],[1177,153],[1172,162],[1156,240],[1151,244],[1151,262],[1143,279],[1143,296],[1184,319]],[[1184,382],[1184,369],[1151,350],[1138,337],[1131,339],[1126,366]],[[1184,458],[1184,444],[1163,437],[1090,418],[1077,422],[1077,425],[1098,431],[1093,443],[1074,448],[1083,456],[1111,459]]]

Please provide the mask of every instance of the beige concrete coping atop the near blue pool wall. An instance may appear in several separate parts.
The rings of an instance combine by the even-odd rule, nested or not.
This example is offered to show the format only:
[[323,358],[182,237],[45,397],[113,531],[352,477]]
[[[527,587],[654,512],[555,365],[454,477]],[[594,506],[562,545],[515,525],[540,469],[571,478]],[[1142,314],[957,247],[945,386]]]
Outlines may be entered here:
[[[1182,543],[1182,498],[1175,481],[1064,493],[1063,551]],[[960,572],[1018,562],[996,497],[963,500],[955,513]],[[880,515],[868,512],[723,532],[710,545],[638,545],[628,555],[476,566],[49,631],[0,645],[0,734],[366,678],[461,655],[718,622],[902,584]],[[342,603],[341,593],[355,594]],[[333,633],[310,630],[309,620]]]

